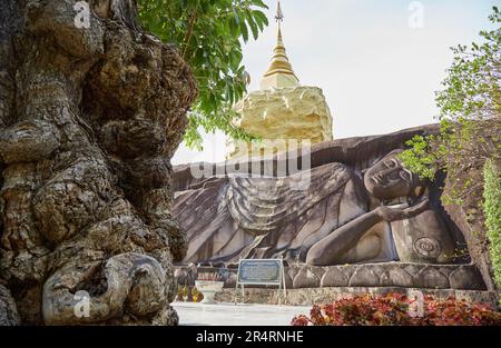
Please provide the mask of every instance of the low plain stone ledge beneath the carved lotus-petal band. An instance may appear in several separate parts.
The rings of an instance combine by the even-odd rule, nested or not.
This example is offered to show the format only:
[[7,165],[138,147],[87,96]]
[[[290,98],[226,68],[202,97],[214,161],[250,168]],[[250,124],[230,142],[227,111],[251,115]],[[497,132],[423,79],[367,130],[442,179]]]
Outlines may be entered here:
[[[422,291],[425,296],[432,295],[435,299],[448,299],[455,297],[469,302],[482,302],[488,304],[492,308],[497,308],[498,298],[497,294],[492,291],[478,291],[478,290],[453,290],[453,289],[411,289],[400,287],[326,287],[326,288],[303,288],[303,289],[288,289],[286,290],[287,306],[312,306],[312,305],[325,305],[333,302],[334,300],[355,296],[355,295],[384,295],[387,292],[397,292],[409,295],[411,290]],[[245,288],[245,304],[264,304],[276,305],[278,302],[277,289],[263,289],[263,288]],[[238,302],[243,302],[242,289],[237,290]],[[233,302],[235,300],[235,289],[225,288],[223,292],[216,295],[217,302]],[[284,304],[284,301],[282,301]]]

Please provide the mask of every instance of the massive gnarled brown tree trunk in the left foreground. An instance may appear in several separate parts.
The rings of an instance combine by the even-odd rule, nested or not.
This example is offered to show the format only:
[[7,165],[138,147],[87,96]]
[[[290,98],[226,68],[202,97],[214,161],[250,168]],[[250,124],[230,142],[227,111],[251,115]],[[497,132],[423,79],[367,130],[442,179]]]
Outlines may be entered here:
[[189,68],[134,0],[1,0],[0,29],[0,322],[176,324]]

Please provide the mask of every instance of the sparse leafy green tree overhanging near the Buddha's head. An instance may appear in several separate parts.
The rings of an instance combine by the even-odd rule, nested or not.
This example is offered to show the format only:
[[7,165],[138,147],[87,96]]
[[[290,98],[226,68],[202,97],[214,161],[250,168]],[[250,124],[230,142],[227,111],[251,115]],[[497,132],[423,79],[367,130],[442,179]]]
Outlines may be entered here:
[[[480,32],[481,43],[453,48],[454,61],[436,92],[439,135],[415,137],[401,155],[409,169],[432,179],[439,169],[454,173],[482,171],[488,159],[501,160],[501,13],[489,17],[493,30]],[[483,180],[453,183],[455,202],[481,188]],[[480,190],[481,193],[481,190]],[[480,197],[479,197],[480,198]]]

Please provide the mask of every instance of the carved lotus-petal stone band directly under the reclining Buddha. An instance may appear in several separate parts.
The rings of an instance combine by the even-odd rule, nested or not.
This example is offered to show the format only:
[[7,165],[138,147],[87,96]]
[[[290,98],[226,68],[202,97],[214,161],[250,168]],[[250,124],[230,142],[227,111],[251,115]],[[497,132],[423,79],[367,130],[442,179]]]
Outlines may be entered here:
[[[219,272],[226,288],[234,288],[236,268],[177,266],[179,285],[194,286],[200,272]],[[474,265],[429,265],[380,262],[330,267],[293,265],[285,267],[287,289],[336,287],[399,287],[419,289],[485,290],[485,284]],[[265,287],[262,287],[265,288]]]

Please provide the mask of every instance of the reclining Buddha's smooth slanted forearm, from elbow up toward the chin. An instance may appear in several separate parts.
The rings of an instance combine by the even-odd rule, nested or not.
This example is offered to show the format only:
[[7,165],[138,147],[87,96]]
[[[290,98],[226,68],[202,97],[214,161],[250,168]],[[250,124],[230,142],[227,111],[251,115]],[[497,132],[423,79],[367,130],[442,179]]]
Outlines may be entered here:
[[310,249],[306,264],[315,266],[335,264],[369,229],[382,220],[377,211],[373,210],[340,227]]

